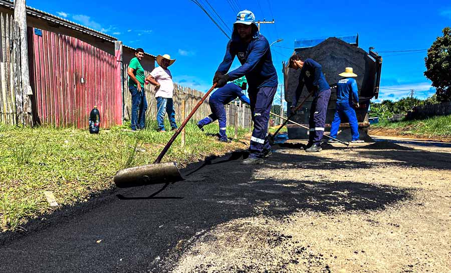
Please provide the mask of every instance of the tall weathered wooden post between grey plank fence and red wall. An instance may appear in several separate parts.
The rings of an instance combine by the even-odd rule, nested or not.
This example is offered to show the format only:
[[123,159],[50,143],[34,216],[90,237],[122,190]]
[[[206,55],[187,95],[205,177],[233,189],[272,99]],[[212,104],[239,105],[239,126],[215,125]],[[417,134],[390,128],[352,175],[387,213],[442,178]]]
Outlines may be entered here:
[[[27,7],[25,0],[14,1],[14,22],[19,26],[20,33],[20,72],[21,72],[21,91],[16,91],[16,95],[22,97],[21,105],[17,106],[17,115],[21,115],[21,122],[24,125],[33,126],[32,101],[30,96],[33,95],[30,86],[30,71],[28,67],[28,36],[27,36]],[[16,25],[16,24],[15,24]],[[16,32],[16,28],[14,29]],[[16,102],[19,99],[16,97]],[[21,110],[21,112],[19,112]],[[18,119],[19,122],[19,119]]]

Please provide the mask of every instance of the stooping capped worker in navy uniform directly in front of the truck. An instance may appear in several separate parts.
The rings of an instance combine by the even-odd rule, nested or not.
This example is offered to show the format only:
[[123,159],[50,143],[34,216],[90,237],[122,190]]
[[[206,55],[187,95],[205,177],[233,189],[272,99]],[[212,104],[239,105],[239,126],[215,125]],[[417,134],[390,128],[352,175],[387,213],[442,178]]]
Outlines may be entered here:
[[321,151],[321,139],[326,125],[327,105],[330,98],[330,87],[324,77],[321,65],[312,59],[305,61],[295,54],[290,57],[289,68],[301,69],[299,83],[294,93],[291,110],[294,111],[301,97],[304,85],[310,93],[313,93],[312,106],[309,116],[309,142],[305,147],[306,152]]

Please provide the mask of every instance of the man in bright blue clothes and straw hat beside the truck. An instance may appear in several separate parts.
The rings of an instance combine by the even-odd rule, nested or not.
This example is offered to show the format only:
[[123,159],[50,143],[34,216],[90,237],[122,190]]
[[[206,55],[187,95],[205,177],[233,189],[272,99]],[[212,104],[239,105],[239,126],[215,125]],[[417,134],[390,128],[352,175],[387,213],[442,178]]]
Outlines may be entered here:
[[359,91],[357,82],[353,79],[353,77],[357,77],[357,74],[353,73],[352,67],[347,67],[345,72],[339,74],[339,76],[344,77],[344,79],[338,81],[337,84],[337,106],[335,108],[334,121],[330,127],[330,136],[337,138],[341,120],[346,117],[351,127],[351,142],[362,143],[364,141],[359,139],[359,125],[354,110],[354,107],[359,107]]

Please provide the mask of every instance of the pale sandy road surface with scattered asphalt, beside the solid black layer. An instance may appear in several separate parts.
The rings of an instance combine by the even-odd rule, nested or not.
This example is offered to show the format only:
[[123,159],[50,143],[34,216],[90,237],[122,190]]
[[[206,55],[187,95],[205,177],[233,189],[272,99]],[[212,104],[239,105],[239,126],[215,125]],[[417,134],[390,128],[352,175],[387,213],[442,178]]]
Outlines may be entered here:
[[[173,272],[451,272],[451,144],[391,141],[278,150],[243,184],[272,181],[274,198],[206,232]],[[290,210],[283,192],[296,211],[265,216]]]

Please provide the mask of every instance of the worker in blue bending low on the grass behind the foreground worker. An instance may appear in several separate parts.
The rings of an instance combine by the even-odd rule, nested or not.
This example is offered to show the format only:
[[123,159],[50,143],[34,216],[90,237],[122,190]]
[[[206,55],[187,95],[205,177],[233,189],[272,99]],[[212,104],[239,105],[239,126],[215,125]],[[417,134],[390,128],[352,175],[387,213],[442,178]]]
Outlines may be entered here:
[[245,77],[241,77],[225,86],[216,89],[208,99],[211,114],[197,123],[197,127],[203,131],[203,126],[217,120],[219,123],[219,141],[231,142],[225,134],[227,125],[227,115],[225,114],[224,105],[239,98],[242,102],[251,104],[249,98],[243,93],[247,88],[247,81]]

